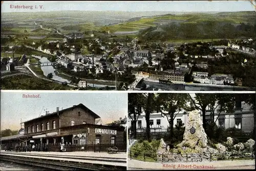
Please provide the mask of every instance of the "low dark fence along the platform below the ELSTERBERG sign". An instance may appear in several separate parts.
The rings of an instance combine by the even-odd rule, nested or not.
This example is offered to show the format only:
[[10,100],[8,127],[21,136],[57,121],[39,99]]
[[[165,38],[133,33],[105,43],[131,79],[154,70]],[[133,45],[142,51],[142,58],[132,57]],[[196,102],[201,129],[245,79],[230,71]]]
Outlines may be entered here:
[[[92,151],[92,152],[107,152],[108,148],[113,148],[114,146],[117,147],[118,152],[126,152],[126,143],[119,143],[119,144],[73,144],[73,145],[65,145],[65,149],[67,152],[74,152],[74,151]],[[49,144],[48,151],[60,151],[59,144]]]

